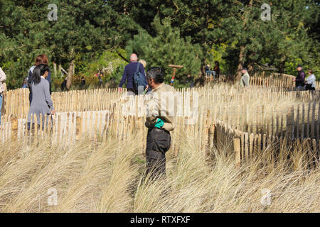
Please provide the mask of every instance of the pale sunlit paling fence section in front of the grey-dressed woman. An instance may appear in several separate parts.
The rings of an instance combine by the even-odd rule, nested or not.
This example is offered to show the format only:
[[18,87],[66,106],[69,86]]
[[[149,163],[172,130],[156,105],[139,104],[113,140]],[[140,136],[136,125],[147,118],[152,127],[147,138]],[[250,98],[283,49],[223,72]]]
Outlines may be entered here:
[[0,142],[49,138],[53,143],[72,143],[82,135],[103,135],[109,125],[109,111],[57,113],[54,116],[34,114],[29,119],[11,118],[2,124]]

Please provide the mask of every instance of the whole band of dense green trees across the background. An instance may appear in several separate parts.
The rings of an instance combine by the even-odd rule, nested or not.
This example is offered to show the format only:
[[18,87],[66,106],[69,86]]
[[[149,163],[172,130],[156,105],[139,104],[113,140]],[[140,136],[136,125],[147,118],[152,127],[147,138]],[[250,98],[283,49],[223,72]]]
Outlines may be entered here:
[[[320,79],[319,1],[274,0],[272,20],[262,21],[263,3],[233,0],[52,0],[58,21],[48,21],[48,2],[0,1],[0,67],[9,89],[21,87],[37,55],[49,57],[68,70],[75,60],[75,87],[83,75],[95,86],[97,68],[112,72],[102,77],[116,87],[124,65],[120,55],[137,52],[147,67],[161,66],[169,83],[173,69],[176,87],[186,75],[196,77],[203,65],[218,60],[223,73],[235,73],[239,62],[270,63],[295,74],[297,64],[312,68]],[[124,50],[125,49],[125,50]],[[240,51],[242,50],[242,52]],[[242,55],[242,57],[240,57]],[[63,78],[53,77],[53,90]]]

